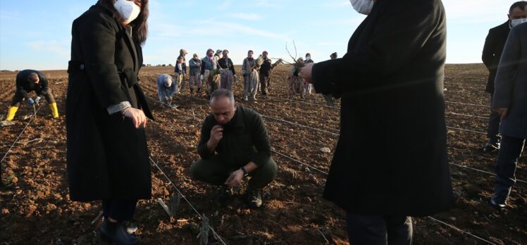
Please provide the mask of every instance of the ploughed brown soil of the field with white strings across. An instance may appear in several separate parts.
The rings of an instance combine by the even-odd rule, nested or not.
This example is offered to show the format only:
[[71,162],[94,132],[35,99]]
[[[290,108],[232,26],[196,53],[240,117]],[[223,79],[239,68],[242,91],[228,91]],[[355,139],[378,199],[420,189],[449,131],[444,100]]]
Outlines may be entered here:
[[[238,68],[240,70],[240,68]],[[276,180],[265,189],[264,206],[254,211],[242,201],[243,188],[225,206],[215,203],[216,189],[190,178],[189,168],[196,160],[196,144],[202,119],[209,109],[205,99],[188,96],[185,88],[176,98],[178,110],[156,102],[156,77],[171,74],[172,68],[144,68],[141,81],[152,99],[156,121],[147,125],[151,157],[168,175],[200,214],[211,220],[211,227],[226,244],[347,244],[344,213],[321,198],[326,175],[288,158],[273,154],[279,165]],[[5,244],[99,244],[97,236],[101,220],[96,218],[100,203],[77,203],[68,198],[66,176],[66,128],[64,101],[67,88],[65,71],[45,71],[59,105],[61,118],[52,120],[50,110],[43,105],[33,120],[1,162],[0,242]],[[16,73],[1,73],[0,113],[6,113],[13,96]],[[445,98],[447,101],[488,105],[484,92],[488,73],[481,64],[447,65]],[[338,132],[339,111],[323,105],[320,95],[307,96],[305,102],[288,101],[287,68],[274,71],[271,99],[243,103],[255,108],[266,121],[273,150],[327,172],[335,135]],[[243,84],[234,84],[240,101]],[[338,106],[338,105],[337,105]],[[486,117],[489,108],[447,103],[447,125],[485,132],[486,120],[465,115]],[[15,142],[33,109],[23,105],[16,115],[15,125],[0,131],[0,157]],[[273,118],[297,122],[292,125]],[[485,134],[448,130],[450,163],[493,172],[495,153],[481,153]],[[320,149],[328,147],[332,153]],[[157,203],[168,199],[175,189],[153,165],[153,199],[140,201],[135,215],[139,225],[137,235],[143,244],[198,244],[197,232],[201,220],[182,201],[174,218],[169,218]],[[495,244],[527,243],[527,184],[517,182],[505,211],[496,211],[487,204],[492,194],[494,177],[451,165],[452,181],[457,196],[456,207],[434,218],[471,232]],[[526,157],[519,160],[516,177],[527,180]],[[418,194],[419,195],[419,194]],[[209,242],[220,244],[210,233]],[[327,239],[327,240],[326,240]],[[430,218],[414,219],[415,244],[485,244]]]

